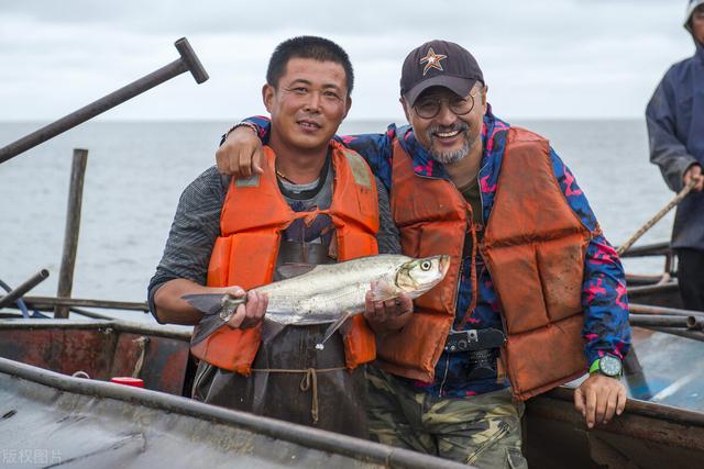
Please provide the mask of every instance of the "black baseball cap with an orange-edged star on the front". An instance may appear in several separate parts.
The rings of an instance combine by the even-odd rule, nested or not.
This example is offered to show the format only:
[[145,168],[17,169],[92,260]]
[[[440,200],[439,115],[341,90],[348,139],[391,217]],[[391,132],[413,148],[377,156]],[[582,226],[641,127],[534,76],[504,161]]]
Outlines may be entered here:
[[448,41],[430,41],[408,54],[400,72],[400,96],[410,105],[430,87],[449,88],[465,97],[484,75],[464,47]]

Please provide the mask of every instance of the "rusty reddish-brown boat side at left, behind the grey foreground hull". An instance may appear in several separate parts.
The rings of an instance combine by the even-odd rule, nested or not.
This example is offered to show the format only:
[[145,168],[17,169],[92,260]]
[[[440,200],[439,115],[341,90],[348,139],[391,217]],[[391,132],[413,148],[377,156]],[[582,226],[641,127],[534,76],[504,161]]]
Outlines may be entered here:
[[190,333],[123,321],[0,321],[0,357],[107,381],[136,376],[144,387],[190,395]]

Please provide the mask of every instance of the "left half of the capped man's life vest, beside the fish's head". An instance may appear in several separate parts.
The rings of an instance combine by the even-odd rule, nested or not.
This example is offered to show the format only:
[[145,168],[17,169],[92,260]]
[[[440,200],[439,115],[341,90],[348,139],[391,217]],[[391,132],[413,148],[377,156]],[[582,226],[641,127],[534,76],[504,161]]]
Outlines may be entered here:
[[393,375],[432,381],[454,321],[460,260],[471,206],[444,179],[419,178],[413,159],[394,141],[391,205],[405,255],[451,256],[444,279],[415,300],[404,328],[377,342],[377,364]]

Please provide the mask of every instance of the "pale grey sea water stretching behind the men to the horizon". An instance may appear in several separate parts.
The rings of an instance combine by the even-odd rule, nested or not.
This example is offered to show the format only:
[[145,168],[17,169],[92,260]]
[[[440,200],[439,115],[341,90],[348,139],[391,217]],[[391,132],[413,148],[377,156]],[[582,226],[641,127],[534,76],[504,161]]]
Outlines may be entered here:
[[[234,120],[233,120],[234,122]],[[548,137],[576,176],[606,237],[624,243],[673,194],[648,161],[645,123],[514,121]],[[90,122],[0,164],[0,279],[18,286],[42,268],[32,290],[55,295],[74,148],[87,148],[74,298],[144,301],[184,188],[213,165],[230,122]],[[0,146],[42,123],[0,123]],[[383,132],[387,122],[348,122],[341,133]],[[638,244],[668,241],[672,213]],[[659,272],[661,260],[628,260]],[[151,321],[139,312],[114,313]]]

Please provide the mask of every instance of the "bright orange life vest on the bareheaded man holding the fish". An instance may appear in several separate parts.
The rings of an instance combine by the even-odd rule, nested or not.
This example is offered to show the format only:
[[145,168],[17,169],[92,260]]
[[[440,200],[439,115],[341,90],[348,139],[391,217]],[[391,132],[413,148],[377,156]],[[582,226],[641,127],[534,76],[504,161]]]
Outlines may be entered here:
[[[378,253],[376,182],[366,163],[337,142],[332,146],[334,182],[327,210],[294,212],[282,196],[274,152],[264,147],[264,174],[232,179],[220,214],[220,236],[210,256],[208,286],[240,286],[248,290],[270,283],[274,276],[280,233],[296,219],[328,214],[336,227],[338,260]],[[343,336],[345,365],[352,369],[375,358],[373,332],[356,315]],[[221,327],[191,347],[193,354],[218,368],[249,376],[261,343],[261,325],[248,330]]]

